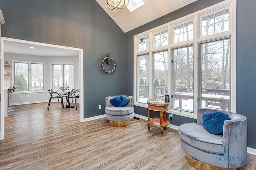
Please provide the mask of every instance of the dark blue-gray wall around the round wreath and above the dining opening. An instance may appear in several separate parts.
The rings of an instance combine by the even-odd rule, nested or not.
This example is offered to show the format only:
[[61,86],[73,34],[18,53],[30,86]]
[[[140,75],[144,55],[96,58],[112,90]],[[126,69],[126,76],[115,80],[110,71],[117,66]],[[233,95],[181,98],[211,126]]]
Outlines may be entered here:
[[[95,0],[1,0],[1,10],[2,37],[84,49],[84,118],[104,114],[106,96],[125,94],[124,32]],[[112,74],[100,67],[108,52]]]

